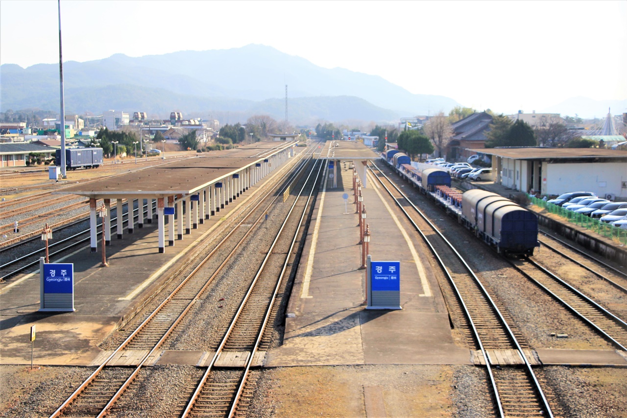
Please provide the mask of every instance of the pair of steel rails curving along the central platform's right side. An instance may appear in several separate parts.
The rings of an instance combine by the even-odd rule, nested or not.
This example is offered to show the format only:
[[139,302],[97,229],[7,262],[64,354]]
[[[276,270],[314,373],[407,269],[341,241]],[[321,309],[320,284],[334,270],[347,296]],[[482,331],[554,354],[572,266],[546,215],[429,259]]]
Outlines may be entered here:
[[[534,383],[535,386],[535,390],[537,391],[537,394],[539,395],[540,398],[540,402],[542,402],[542,407],[544,407],[545,412],[547,412],[549,417],[552,417],[552,411],[551,411],[551,407],[549,405],[549,402],[547,401],[545,395],[544,395],[544,391],[542,390],[542,387],[540,387],[540,383],[537,380],[537,377],[535,376],[535,373],[529,363],[529,361],[527,360],[527,357],[525,356],[524,351],[522,350],[522,347],[520,346],[517,338],[515,337],[514,333],[512,332],[512,330],[510,329],[510,327],[507,324],[507,321],[505,321],[505,318],[503,318],[502,314],[500,313],[500,310],[497,308],[496,304],[494,303],[494,301],[492,300],[492,297],[490,297],[490,295],[488,294],[487,290],[485,289],[485,287],[483,286],[482,282],[478,279],[478,277],[475,275],[475,273],[472,271],[472,269],[470,268],[470,266],[466,263],[465,259],[463,259],[463,257],[461,257],[461,255],[459,254],[459,252],[455,249],[455,247],[453,247],[453,245],[444,237],[444,235],[440,232],[440,230],[433,225],[433,223],[431,223],[431,221],[426,217],[426,215],[424,215],[423,212],[421,212],[421,210],[419,210],[416,205],[414,205],[414,203],[409,200],[409,198],[403,193],[403,191],[400,190],[400,188],[398,188],[398,186],[396,186],[394,184],[393,181],[391,181],[385,173],[383,173],[383,171],[376,165],[376,163],[372,163],[372,165],[374,167],[376,167],[376,169],[379,170],[379,172],[382,174],[382,176],[384,176],[384,178],[386,178],[387,181],[389,181],[389,183],[391,185],[394,186],[394,188],[396,189],[396,191],[398,191],[398,193],[403,196],[403,198],[409,203],[409,205],[411,205],[411,207],[416,211],[416,213],[418,213],[420,215],[421,218],[423,218],[424,222],[426,222],[429,227],[433,228],[433,231],[436,232],[436,234],[438,235],[438,237],[441,238],[441,240],[443,240],[443,242],[445,242],[445,244],[451,249],[451,251],[456,255],[456,257],[458,257],[458,259],[461,261],[461,263],[465,266],[465,268],[468,270],[468,272],[470,273],[470,275],[473,278],[473,281],[475,281],[475,283],[477,284],[477,286],[480,288],[480,290],[482,291],[482,294],[484,295],[484,297],[490,302],[490,304],[492,305],[492,309],[495,311],[495,313],[498,314],[498,318],[500,318],[500,321],[502,322],[503,327],[505,328],[505,330],[507,330],[507,333],[510,337],[510,339],[512,340],[512,342],[514,343],[514,345],[516,346],[516,349],[519,353],[520,358],[522,359],[522,361],[525,364],[525,369],[528,373],[528,375],[532,378],[532,382]],[[372,172],[372,169],[371,169]],[[392,196],[394,198],[394,196],[392,195],[391,191],[389,191],[389,189],[387,189],[387,187],[385,185],[383,185],[382,181],[379,179],[379,177],[374,174],[374,177],[377,178],[377,180],[379,180],[379,182],[381,182],[381,185],[387,190],[387,192],[389,193],[390,196]],[[505,412],[503,410],[503,405],[502,402],[500,400],[500,396],[498,394],[498,389],[497,389],[497,383],[495,381],[495,378],[493,376],[492,373],[492,368],[490,367],[490,356],[488,356],[487,351],[485,350],[485,348],[483,347],[483,343],[481,341],[480,336],[478,335],[478,330],[477,328],[475,328],[475,324],[472,320],[472,317],[470,316],[470,312],[468,311],[468,308],[465,304],[465,302],[463,301],[463,297],[461,296],[461,293],[458,289],[458,287],[456,286],[455,282],[453,281],[453,277],[451,275],[451,272],[448,271],[448,269],[446,268],[446,265],[444,263],[444,261],[441,259],[440,255],[438,254],[438,252],[435,250],[435,248],[433,247],[433,245],[431,245],[431,243],[429,242],[429,239],[426,237],[426,235],[424,235],[424,233],[419,229],[418,225],[416,225],[416,223],[414,223],[413,219],[411,219],[411,216],[409,216],[409,214],[407,213],[407,211],[403,208],[403,205],[401,205],[399,203],[398,200],[396,200],[396,198],[394,198],[394,201],[396,202],[396,205],[398,205],[398,207],[401,209],[401,211],[406,215],[406,217],[408,217],[409,222],[412,223],[412,225],[414,226],[414,228],[416,228],[416,230],[420,233],[421,237],[423,237],[423,240],[426,242],[426,244],[429,246],[429,249],[431,249],[431,251],[433,252],[433,254],[435,255],[436,259],[438,260],[438,264],[440,264],[440,266],[442,267],[443,271],[445,271],[445,274],[448,278],[448,281],[451,283],[451,286],[453,286],[453,288],[455,289],[455,292],[457,294],[458,299],[460,300],[461,305],[463,306],[463,310],[466,314],[466,318],[468,319],[469,323],[472,326],[472,330],[473,333],[475,334],[475,338],[478,341],[478,344],[480,346],[480,350],[483,353],[483,357],[485,358],[485,363],[486,363],[486,368],[488,371],[488,375],[490,377],[490,382],[492,385],[492,389],[495,393],[495,397],[497,399],[497,405],[498,405],[498,410],[499,410],[499,414],[501,417],[505,418]]]

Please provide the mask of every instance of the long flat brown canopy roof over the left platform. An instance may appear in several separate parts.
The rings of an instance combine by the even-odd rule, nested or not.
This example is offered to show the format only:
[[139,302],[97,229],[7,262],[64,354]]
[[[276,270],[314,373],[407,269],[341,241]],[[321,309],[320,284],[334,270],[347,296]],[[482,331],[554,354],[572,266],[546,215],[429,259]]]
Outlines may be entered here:
[[[247,167],[295,146],[297,142],[256,142],[228,151],[214,151],[196,157],[160,164],[133,173],[90,181],[55,195],[80,195],[95,199],[165,198],[191,195],[229,178]],[[167,160],[166,160],[167,161]]]

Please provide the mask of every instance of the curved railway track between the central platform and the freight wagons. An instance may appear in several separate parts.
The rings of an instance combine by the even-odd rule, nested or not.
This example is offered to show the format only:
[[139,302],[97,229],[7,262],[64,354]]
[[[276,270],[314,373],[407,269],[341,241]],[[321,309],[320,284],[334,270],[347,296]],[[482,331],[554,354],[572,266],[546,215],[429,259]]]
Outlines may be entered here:
[[[552,417],[551,407],[532,370],[534,359],[519,342],[487,289],[461,255],[376,164],[369,173],[421,235],[448,279],[485,364],[495,410],[500,417]],[[502,362],[502,356],[512,361]],[[496,367],[494,367],[496,366]]]

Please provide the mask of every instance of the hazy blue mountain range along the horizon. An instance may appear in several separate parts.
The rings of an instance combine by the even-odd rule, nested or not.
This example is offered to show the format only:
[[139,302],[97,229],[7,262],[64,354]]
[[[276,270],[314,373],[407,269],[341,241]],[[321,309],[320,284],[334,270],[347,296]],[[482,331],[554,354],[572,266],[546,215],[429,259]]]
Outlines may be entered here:
[[[411,94],[381,77],[343,68],[317,67],[275,48],[248,45],[211,51],[180,51],[139,58],[117,54],[103,60],[63,64],[67,112],[116,109],[145,111],[166,117],[234,112],[245,120],[255,113],[285,117],[296,124],[319,119],[396,121],[400,116],[427,114],[458,105],[435,95]],[[26,69],[0,67],[0,110],[57,109],[58,65]]]

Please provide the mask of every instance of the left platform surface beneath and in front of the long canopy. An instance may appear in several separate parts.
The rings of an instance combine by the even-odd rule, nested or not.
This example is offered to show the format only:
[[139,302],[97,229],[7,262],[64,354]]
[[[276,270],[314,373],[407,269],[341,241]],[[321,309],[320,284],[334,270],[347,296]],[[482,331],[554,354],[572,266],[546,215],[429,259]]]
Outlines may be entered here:
[[[39,311],[39,272],[0,284],[0,364],[31,363],[30,331],[34,325],[35,364],[92,365],[103,353],[98,345],[159,291],[164,277],[179,270],[183,259],[194,254],[205,238],[228,228],[234,212],[289,165],[258,180],[215,216],[190,228],[182,239],[174,241],[174,246],[167,245],[164,253],[154,250],[159,231],[153,222],[134,228],[121,239],[113,237],[106,247],[108,267],[100,267],[100,245],[98,252],[91,252],[87,244],[61,259],[51,257],[50,262],[74,264],[75,312]],[[174,223],[166,224],[167,229],[174,227]]]

